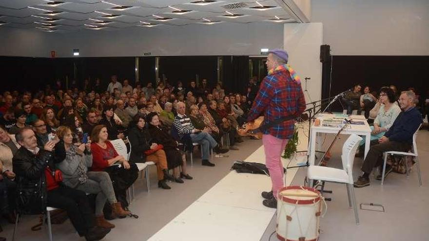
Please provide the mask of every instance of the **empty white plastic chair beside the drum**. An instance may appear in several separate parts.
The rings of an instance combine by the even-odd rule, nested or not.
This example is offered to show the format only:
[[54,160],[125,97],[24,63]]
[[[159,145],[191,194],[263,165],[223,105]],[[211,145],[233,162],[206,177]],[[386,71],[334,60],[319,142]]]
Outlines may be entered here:
[[361,140],[362,138],[360,136],[351,134],[344,143],[341,155],[343,169],[320,166],[310,166],[307,169],[307,177],[310,179],[309,183],[312,183],[312,180],[320,180],[346,184],[349,206],[354,209],[356,224],[359,224],[359,215],[357,212],[356,197],[354,195],[353,187],[353,162],[354,155],[356,154],[356,150],[359,147]]

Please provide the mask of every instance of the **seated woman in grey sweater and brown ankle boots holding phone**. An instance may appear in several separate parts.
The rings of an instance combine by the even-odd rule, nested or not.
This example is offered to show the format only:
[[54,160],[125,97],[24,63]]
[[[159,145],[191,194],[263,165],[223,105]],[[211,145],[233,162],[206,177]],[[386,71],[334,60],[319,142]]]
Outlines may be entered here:
[[[104,219],[103,208],[106,201],[112,205],[114,217],[124,218],[131,212],[122,209],[117,202],[109,174],[104,171],[88,171],[92,166],[91,143],[74,145],[70,128],[61,126],[57,130],[60,142],[56,145],[56,158],[62,160],[57,167],[63,173],[63,183],[71,188],[96,194],[95,215],[97,226],[114,228]],[[79,143],[78,143],[79,144]]]

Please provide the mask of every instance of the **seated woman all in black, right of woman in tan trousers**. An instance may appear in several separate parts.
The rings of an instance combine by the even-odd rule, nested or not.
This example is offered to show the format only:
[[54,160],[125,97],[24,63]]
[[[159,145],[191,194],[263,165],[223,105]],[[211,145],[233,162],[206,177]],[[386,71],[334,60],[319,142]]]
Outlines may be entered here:
[[[182,153],[180,153],[176,140],[167,132],[167,130],[163,129],[159,122],[159,117],[156,112],[150,113],[146,117],[148,121],[148,129],[149,133],[152,136],[153,140],[159,145],[163,146],[163,150],[167,157],[167,166],[169,169],[173,168],[173,176],[175,177],[176,183],[183,183],[181,178],[185,179],[193,179],[187,172],[186,160],[183,159]],[[182,172],[180,172],[180,168],[182,168]]]

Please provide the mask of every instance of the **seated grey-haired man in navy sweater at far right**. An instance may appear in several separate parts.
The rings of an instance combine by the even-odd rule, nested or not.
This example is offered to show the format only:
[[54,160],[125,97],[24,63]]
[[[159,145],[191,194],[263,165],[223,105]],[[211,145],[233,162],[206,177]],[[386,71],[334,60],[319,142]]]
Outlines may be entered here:
[[[407,152],[412,146],[412,136],[422,123],[422,115],[414,106],[415,94],[410,91],[402,92],[399,105],[402,112],[398,115],[390,129],[379,139],[371,141],[371,147],[362,165],[363,175],[356,182],[355,187],[370,185],[370,173],[374,167],[383,164],[383,153],[386,151]],[[394,105],[392,105],[394,106]],[[391,107],[390,107],[391,108]],[[386,165],[385,177],[392,171]],[[381,174],[377,177],[381,180]]]

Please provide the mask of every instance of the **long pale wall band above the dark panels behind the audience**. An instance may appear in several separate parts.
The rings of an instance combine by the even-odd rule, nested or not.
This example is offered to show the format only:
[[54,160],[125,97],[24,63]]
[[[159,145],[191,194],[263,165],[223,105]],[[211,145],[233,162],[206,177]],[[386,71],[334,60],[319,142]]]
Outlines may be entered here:
[[70,33],[40,33],[35,30],[0,29],[0,56],[58,57],[207,56],[258,55],[261,48],[283,47],[283,25],[278,23],[192,24],[181,27],[134,27],[120,31],[81,30]]

